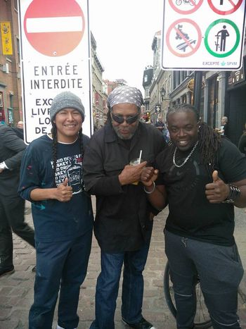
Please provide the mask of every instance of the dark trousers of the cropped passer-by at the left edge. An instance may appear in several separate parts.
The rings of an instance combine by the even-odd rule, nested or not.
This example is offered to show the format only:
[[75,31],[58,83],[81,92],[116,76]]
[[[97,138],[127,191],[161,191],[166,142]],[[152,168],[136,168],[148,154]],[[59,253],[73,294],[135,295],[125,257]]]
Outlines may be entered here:
[[34,230],[25,223],[25,200],[17,194],[0,194],[0,268],[13,265],[13,237],[16,235],[35,247]]

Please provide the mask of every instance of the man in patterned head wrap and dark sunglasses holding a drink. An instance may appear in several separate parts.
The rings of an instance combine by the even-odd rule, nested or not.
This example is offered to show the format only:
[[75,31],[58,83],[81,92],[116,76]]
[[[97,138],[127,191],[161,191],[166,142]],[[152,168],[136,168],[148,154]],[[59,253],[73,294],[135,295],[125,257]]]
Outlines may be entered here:
[[90,329],[115,328],[123,264],[122,321],[135,329],[154,328],[142,316],[142,272],[155,210],[139,180],[166,144],[155,127],[140,122],[142,104],[139,89],[115,88],[108,96],[108,124],[94,133],[84,154],[84,182],[86,191],[96,195],[94,233],[101,247],[96,319]]

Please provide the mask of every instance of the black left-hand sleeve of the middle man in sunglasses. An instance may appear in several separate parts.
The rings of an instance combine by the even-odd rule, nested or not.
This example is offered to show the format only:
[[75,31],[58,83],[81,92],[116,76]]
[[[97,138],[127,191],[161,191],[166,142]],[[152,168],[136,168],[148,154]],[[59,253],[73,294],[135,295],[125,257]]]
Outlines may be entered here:
[[95,195],[113,195],[123,193],[118,175],[107,176],[103,168],[103,143],[91,137],[84,152],[84,184],[86,191]]

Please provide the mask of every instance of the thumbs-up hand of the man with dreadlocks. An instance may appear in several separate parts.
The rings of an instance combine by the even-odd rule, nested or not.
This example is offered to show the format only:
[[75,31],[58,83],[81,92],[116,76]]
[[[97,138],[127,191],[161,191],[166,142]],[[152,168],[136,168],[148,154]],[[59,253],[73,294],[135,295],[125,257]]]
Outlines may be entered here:
[[211,204],[219,204],[230,194],[230,187],[219,178],[218,171],[212,173],[213,182],[206,185],[205,194]]

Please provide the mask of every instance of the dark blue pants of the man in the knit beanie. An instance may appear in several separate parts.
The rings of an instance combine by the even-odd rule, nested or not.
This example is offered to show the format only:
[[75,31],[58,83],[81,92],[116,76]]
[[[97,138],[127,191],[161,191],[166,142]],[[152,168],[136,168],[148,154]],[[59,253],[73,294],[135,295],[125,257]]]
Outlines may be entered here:
[[91,252],[92,231],[75,240],[37,242],[37,269],[34,304],[29,314],[29,329],[51,329],[58,292],[58,325],[77,328],[79,291]]

